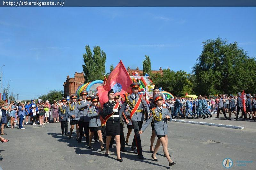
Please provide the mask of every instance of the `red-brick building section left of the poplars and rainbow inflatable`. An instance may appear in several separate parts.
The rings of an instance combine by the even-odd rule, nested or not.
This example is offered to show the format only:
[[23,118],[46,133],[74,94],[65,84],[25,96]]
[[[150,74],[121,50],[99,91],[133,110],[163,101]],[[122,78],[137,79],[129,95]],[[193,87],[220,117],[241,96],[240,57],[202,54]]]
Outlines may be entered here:
[[80,85],[84,84],[84,72],[82,73],[75,73],[74,78],[69,78],[67,76],[66,82],[64,82],[64,96],[67,97],[67,95],[75,94],[76,90]]

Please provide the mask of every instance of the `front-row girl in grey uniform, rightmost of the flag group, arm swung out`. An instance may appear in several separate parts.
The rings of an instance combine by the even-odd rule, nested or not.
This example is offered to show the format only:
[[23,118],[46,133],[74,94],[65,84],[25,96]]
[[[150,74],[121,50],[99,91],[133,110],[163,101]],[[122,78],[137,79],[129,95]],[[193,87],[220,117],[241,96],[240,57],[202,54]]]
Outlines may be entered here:
[[156,94],[153,98],[153,101],[156,103],[156,107],[150,109],[150,118],[142,126],[139,133],[142,134],[150,123],[154,123],[154,127],[155,127],[154,130],[158,139],[156,141],[156,146],[151,157],[154,159],[154,161],[158,161],[158,159],[156,158],[156,153],[160,148],[160,144],[162,144],[164,155],[166,155],[166,158],[169,162],[169,166],[172,166],[175,164],[175,162],[172,161],[168,152],[168,136],[167,136],[167,133],[168,133],[167,120],[168,121],[172,120],[171,114],[166,107],[162,106],[163,94],[161,93]]

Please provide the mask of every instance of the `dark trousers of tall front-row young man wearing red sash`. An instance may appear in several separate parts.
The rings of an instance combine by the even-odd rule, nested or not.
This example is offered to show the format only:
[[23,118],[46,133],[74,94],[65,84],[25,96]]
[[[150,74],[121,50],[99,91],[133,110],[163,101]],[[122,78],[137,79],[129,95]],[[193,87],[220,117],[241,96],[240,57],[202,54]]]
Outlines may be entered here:
[[139,131],[142,127],[143,121],[132,121],[133,129],[134,129],[134,137],[132,141],[132,149],[135,149],[137,146],[137,152],[139,155],[142,155],[142,148],[141,148],[141,140],[140,140],[140,134]]

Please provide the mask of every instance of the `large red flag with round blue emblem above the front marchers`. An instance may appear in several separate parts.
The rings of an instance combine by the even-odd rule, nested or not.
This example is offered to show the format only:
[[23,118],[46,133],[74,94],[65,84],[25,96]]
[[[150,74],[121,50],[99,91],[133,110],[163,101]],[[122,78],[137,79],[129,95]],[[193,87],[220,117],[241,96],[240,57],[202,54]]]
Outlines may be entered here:
[[124,94],[130,91],[130,85],[132,84],[132,79],[130,78],[123,62],[117,64],[114,70],[108,76],[108,81],[104,86],[97,87],[99,99],[101,105],[108,102],[108,91],[113,89],[114,93]]

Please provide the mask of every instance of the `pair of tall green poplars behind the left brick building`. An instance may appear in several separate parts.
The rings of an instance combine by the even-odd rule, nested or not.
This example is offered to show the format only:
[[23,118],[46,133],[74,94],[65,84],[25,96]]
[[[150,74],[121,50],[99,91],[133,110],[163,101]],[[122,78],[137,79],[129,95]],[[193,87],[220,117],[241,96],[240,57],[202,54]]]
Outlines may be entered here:
[[86,53],[84,57],[84,83],[94,80],[103,80],[105,75],[106,53],[99,46],[93,47],[93,54],[90,46],[85,46]]

